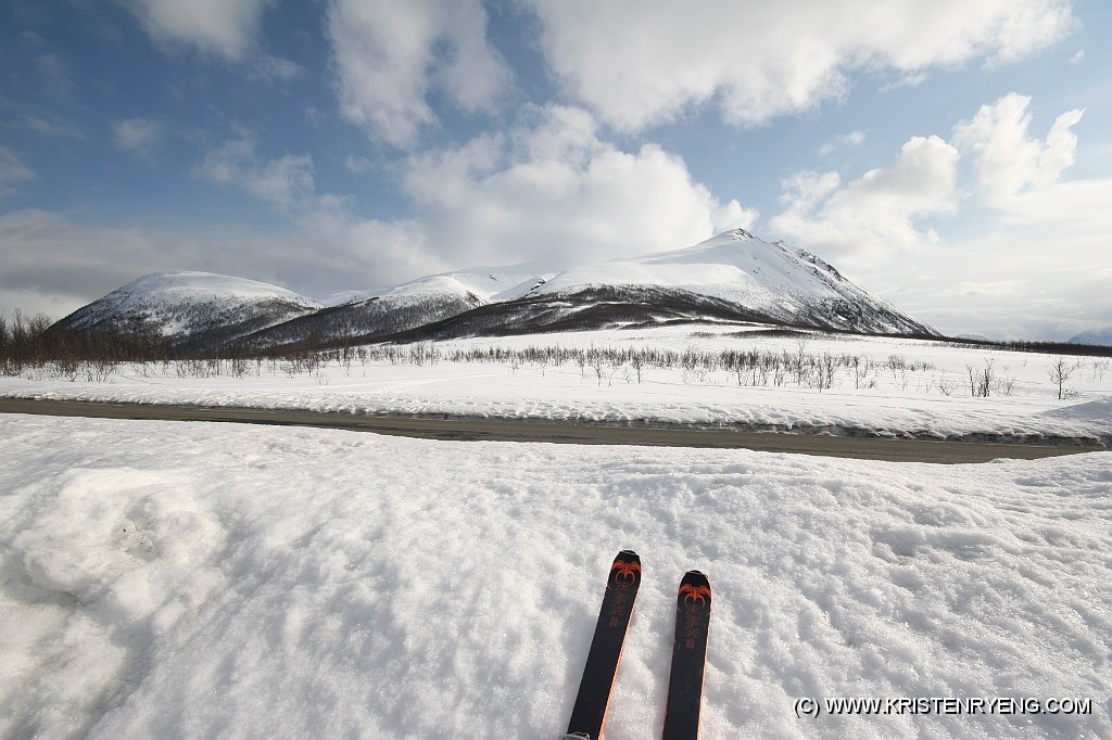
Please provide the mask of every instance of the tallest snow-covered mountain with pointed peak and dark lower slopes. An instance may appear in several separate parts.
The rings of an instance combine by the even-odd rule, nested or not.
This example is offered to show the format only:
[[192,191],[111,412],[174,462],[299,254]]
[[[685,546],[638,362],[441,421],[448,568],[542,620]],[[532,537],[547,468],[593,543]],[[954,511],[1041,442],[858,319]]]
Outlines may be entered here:
[[802,249],[743,229],[668,252],[538,274],[492,301],[395,339],[726,321],[937,336]]

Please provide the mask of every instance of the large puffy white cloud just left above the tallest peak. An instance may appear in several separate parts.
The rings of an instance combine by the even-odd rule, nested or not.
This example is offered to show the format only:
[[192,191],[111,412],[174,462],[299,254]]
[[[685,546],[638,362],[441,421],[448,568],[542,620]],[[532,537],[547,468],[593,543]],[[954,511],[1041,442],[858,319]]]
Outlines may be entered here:
[[480,263],[602,260],[672,249],[756,213],[718,201],[655,144],[623,151],[582,109],[529,109],[497,136],[414,156],[405,191],[428,243]]

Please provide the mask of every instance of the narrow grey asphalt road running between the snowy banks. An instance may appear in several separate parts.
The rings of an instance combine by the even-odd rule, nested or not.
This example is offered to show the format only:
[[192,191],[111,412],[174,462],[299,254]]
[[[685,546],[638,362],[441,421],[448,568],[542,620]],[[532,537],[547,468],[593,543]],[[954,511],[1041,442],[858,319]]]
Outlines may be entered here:
[[476,417],[353,416],[280,409],[153,406],[146,403],[101,403],[11,398],[0,398],[0,413],[318,427],[421,439],[459,441],[743,448],[764,452],[795,452],[833,458],[891,460],[896,462],[986,462],[999,458],[1033,460],[1059,454],[1091,452],[1100,449],[1081,444],[1003,444],[840,437],[832,434],[752,432],[734,429],[704,429],[678,426],[615,426]]

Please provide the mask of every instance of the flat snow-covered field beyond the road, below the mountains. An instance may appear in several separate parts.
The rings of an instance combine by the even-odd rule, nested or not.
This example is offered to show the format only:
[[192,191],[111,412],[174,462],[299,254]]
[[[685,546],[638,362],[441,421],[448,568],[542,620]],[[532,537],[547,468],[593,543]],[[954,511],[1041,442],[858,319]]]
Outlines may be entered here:
[[[217,376],[207,374],[202,367],[196,374],[175,364],[125,364],[92,381],[80,373],[71,382],[49,370],[28,370],[21,377],[0,378],[0,396],[1112,443],[1112,361],[1108,358],[1066,358],[1070,368],[1078,367],[1064,383],[1066,398],[1060,400],[1048,376],[1059,359],[1052,356],[818,334],[801,344],[796,337],[738,332],[736,326],[590,331],[460,340],[425,349],[444,357],[497,348],[691,350],[705,356],[731,350],[788,360],[854,357],[858,364],[840,366],[831,387],[822,390],[813,382],[797,381],[792,372],[777,386],[773,377],[755,381],[749,372],[739,378],[723,368],[646,366],[638,382],[629,363],[604,363],[596,369],[572,361],[557,367],[440,359],[417,366],[405,360],[353,359],[314,369],[251,362],[240,374],[224,363]],[[990,368],[990,396],[972,396],[970,371],[983,378]]]

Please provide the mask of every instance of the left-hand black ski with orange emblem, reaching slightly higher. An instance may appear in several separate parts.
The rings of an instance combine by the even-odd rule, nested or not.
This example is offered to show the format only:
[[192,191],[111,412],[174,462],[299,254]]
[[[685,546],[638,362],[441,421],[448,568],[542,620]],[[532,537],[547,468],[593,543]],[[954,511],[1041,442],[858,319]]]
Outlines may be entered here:
[[622,661],[629,618],[641,587],[641,558],[633,550],[623,550],[614,559],[606,579],[606,593],[598,610],[595,636],[587,651],[579,693],[572,709],[567,734],[575,738],[598,740],[606,724],[606,710],[610,703],[614,678]]

